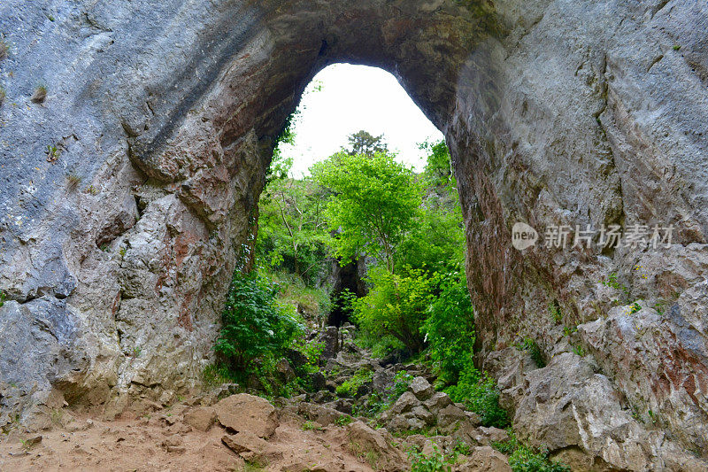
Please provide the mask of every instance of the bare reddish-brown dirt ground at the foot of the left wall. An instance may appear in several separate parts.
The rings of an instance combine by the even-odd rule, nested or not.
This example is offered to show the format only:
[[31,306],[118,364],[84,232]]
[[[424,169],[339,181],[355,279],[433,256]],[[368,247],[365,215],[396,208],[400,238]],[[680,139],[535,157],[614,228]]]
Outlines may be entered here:
[[[187,406],[115,421],[75,416],[64,428],[34,434],[11,431],[0,439],[0,471],[369,471],[350,452],[346,429],[305,430],[296,417],[281,418],[267,450],[251,463],[222,442],[227,430],[207,431],[182,421]],[[38,437],[41,437],[39,439]]]

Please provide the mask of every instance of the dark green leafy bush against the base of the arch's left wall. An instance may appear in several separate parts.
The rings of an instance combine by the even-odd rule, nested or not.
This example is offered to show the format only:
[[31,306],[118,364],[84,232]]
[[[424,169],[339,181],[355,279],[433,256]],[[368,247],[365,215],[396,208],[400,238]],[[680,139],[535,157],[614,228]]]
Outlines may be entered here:
[[214,349],[236,378],[273,364],[302,332],[293,310],[276,303],[277,293],[265,278],[234,275]]

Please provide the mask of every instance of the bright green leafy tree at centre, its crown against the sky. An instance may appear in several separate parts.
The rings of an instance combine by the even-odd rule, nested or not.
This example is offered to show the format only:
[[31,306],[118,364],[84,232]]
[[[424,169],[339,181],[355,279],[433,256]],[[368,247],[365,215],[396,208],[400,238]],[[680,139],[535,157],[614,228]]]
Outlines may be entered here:
[[349,261],[366,252],[393,272],[396,248],[421,203],[412,169],[389,154],[340,152],[312,166],[312,176],[333,193],[325,217],[331,230],[340,231],[330,242],[336,256]]

